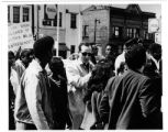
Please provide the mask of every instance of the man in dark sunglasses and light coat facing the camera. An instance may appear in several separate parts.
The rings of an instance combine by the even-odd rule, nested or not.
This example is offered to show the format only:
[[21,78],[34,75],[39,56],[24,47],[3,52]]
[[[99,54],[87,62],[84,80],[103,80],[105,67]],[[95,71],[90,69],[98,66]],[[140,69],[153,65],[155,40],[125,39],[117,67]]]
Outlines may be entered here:
[[72,129],[80,129],[86,105],[83,92],[91,76],[93,64],[90,62],[91,46],[88,43],[79,45],[79,58],[66,66],[68,78],[69,107],[72,114]]

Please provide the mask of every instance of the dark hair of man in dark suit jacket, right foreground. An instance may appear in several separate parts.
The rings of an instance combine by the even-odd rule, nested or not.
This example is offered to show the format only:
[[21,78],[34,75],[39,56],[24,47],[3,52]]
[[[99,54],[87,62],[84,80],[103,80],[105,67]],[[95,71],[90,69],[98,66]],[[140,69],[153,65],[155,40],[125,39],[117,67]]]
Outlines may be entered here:
[[136,70],[146,63],[146,51],[142,45],[134,45],[125,53],[125,63],[128,68]]

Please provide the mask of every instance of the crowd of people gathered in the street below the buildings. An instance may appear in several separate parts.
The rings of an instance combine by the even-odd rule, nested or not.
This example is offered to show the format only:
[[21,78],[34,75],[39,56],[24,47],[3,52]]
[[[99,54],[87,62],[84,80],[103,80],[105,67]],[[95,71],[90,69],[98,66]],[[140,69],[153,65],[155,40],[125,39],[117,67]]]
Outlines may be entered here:
[[9,51],[9,130],[163,129],[161,45],[131,38],[119,56],[111,44],[98,50],[80,43],[66,63],[44,36]]

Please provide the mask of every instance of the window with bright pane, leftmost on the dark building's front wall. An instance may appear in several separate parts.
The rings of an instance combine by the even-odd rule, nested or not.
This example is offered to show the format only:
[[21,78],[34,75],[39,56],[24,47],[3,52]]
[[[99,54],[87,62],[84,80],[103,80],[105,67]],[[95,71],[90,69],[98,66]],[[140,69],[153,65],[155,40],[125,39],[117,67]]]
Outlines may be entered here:
[[120,37],[122,37],[122,28],[120,28],[120,26],[113,26],[112,28],[112,37],[113,38],[120,38]]

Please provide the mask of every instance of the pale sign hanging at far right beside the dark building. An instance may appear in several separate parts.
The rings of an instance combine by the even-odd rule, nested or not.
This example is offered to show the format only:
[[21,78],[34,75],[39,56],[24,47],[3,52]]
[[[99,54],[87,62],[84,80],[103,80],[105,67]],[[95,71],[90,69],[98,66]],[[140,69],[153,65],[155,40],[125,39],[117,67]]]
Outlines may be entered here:
[[158,19],[149,19],[148,20],[148,33],[155,33],[158,30],[159,30]]

